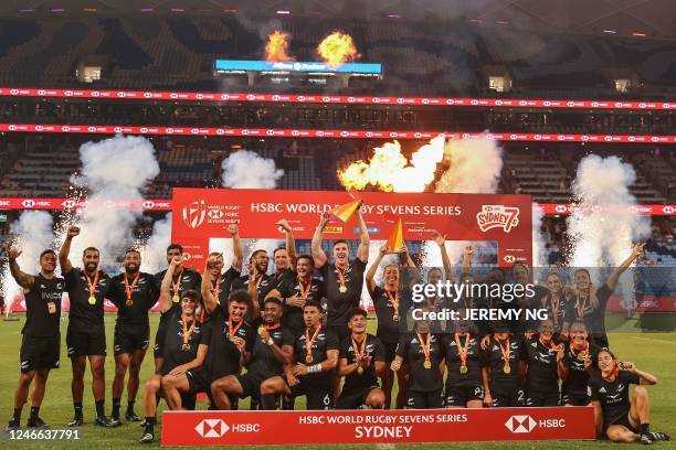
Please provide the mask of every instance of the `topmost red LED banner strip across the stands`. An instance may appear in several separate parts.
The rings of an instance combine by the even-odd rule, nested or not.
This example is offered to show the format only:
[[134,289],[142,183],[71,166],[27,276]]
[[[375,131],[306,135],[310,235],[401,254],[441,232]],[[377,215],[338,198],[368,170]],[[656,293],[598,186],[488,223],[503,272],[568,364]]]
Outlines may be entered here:
[[352,104],[352,105],[415,105],[415,106],[486,106],[494,108],[563,108],[563,109],[676,109],[669,101],[614,101],[614,100],[572,100],[534,98],[464,98],[464,97],[373,97],[347,95],[287,95],[255,93],[192,93],[152,90],[89,90],[0,87],[0,96],[9,97],[52,97],[52,98],[103,98],[118,100],[168,100],[168,101],[271,101],[298,104]]

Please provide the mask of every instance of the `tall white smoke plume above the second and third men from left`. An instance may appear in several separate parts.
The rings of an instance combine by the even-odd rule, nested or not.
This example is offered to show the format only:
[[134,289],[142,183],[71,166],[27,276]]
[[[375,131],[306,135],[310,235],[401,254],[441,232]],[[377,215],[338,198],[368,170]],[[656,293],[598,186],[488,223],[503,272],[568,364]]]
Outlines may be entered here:
[[146,138],[117,135],[84,143],[80,158],[82,174],[73,183],[86,188],[88,199],[74,219],[81,234],[73,239],[71,255],[80,256],[85,247],[94,246],[102,258],[110,258],[133,242],[131,229],[142,213],[107,202],[144,200],[144,189],[160,172],[155,148]]

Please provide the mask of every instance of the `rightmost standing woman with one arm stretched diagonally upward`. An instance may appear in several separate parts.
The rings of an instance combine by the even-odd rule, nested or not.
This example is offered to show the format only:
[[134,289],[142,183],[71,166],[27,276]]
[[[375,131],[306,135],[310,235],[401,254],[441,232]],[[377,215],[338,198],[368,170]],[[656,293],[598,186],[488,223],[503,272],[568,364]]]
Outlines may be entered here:
[[590,341],[600,347],[609,346],[605,333],[605,306],[620,282],[620,276],[643,255],[643,246],[644,244],[635,245],[629,258],[615,268],[600,288],[593,286],[589,270],[575,270],[574,289],[566,312],[564,330],[568,330],[575,319],[582,319],[587,324]]

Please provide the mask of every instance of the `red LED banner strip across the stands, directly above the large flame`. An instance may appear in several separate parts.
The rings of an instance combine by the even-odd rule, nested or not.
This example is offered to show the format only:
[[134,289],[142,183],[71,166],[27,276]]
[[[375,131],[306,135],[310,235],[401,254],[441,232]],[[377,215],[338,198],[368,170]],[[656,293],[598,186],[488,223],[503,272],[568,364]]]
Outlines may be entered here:
[[52,132],[86,135],[148,135],[148,136],[222,136],[261,138],[321,138],[321,139],[399,139],[430,140],[443,133],[446,139],[488,138],[513,142],[605,142],[605,143],[675,143],[676,136],[648,135],[542,135],[529,132],[445,132],[410,130],[316,130],[281,128],[205,128],[156,127],[118,125],[45,125],[0,124],[0,132]]

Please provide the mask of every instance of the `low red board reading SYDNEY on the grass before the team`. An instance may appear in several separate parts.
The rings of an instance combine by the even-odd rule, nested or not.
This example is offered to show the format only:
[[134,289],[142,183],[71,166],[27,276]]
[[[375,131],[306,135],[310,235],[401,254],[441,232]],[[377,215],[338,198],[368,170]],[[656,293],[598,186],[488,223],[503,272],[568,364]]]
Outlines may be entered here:
[[594,439],[590,407],[165,411],[162,447]]

